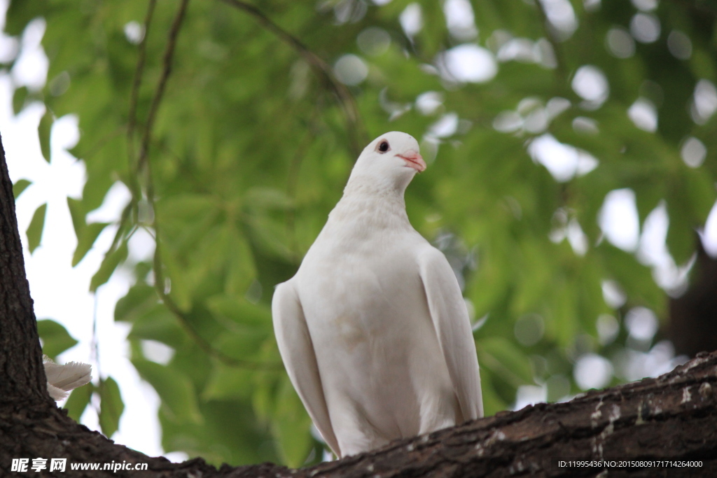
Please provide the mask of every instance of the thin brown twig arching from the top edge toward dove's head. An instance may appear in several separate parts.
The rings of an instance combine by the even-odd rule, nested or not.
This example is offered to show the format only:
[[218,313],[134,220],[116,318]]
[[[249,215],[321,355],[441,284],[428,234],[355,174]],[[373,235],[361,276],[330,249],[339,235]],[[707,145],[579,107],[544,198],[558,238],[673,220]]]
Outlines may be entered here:
[[257,19],[257,21],[259,21],[265,29],[275,34],[283,42],[289,44],[290,47],[293,47],[293,49],[295,49],[303,57],[303,59],[305,59],[318,77],[324,80],[326,85],[328,85],[338,98],[338,102],[343,110],[343,115],[346,118],[346,129],[348,130],[348,138],[351,142],[351,151],[354,156],[358,157],[361,150],[364,149],[364,144],[367,142],[366,132],[364,131],[364,126],[361,123],[361,116],[359,115],[359,108],[356,106],[356,100],[354,100],[351,92],[348,91],[343,83],[336,80],[331,67],[328,66],[328,64],[326,64],[326,62],[319,57],[318,54],[315,54],[305,44],[303,44],[300,39],[293,36],[293,34],[290,34],[285,29],[279,27],[260,9],[257,9],[256,6],[248,4],[242,0],[220,1],[230,6],[234,6],[234,8],[239,10],[245,11]]

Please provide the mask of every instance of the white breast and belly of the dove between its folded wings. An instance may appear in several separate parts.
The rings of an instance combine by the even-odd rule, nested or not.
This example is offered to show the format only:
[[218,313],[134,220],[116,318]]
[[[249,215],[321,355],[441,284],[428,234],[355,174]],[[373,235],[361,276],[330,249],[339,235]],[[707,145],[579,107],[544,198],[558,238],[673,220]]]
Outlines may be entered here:
[[297,273],[339,441],[342,427],[390,440],[437,428],[427,420],[455,421],[455,396],[419,274],[423,247],[430,246],[416,232],[355,244],[317,240]]

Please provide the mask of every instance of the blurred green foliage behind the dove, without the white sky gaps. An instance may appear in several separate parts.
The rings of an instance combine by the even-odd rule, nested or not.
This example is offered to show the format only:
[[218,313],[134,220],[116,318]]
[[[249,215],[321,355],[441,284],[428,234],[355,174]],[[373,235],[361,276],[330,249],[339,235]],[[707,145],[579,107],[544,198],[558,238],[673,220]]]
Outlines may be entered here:
[[[80,118],[72,153],[87,183],[81,200],[68,199],[73,264],[106,226],[86,224],[87,213],[116,181],[132,193],[92,290],[117,267],[135,273],[115,320],[132,325],[133,364],[161,398],[166,451],[234,465],[320,459],[280,364],[272,290],[297,269],[359,148],[388,130],[423,138],[429,168],[408,188],[407,208],[428,239],[452,238],[442,249],[483,317],[475,338],[487,414],[511,406],[525,384],[547,383],[551,399],[577,393],[576,356],[607,355],[627,340],[621,328],[601,345],[597,317],[619,322],[644,306],[665,319],[650,267],[604,240],[598,219],[616,189],[635,192],[640,224],[665,201],[668,249],[678,265],[692,256],[694,229],[716,199],[717,122],[695,113],[695,85],[717,82],[717,9],[690,0],[472,1],[471,33],[447,28],[444,2],[424,1],[422,28],[408,37],[399,18],[409,2],[380,3],[271,0],[257,2],[257,13],[232,0],[11,2],[7,34],[47,21],[47,85],[19,87],[13,98],[16,112],[47,105],[45,158],[52,120]],[[657,24],[654,41],[632,39],[640,21]],[[460,44],[498,57],[495,77],[446,75],[443,52]],[[341,85],[326,67],[344,54],[368,66],[359,85]],[[607,78],[607,97],[576,93],[584,65]],[[417,100],[427,92],[432,107]],[[628,117],[638,99],[657,110],[656,129]],[[441,132],[439,120],[454,125]],[[597,168],[556,180],[529,153],[546,133]],[[690,136],[708,151],[698,167],[680,157]],[[28,229],[31,249],[43,222],[44,206]],[[569,224],[584,234],[582,249]],[[158,247],[135,264],[128,242],[138,229]],[[617,309],[604,299],[606,280],[627,298]],[[516,324],[533,335],[518,340]],[[148,340],[173,349],[171,360],[149,360]],[[94,389],[81,390],[67,403],[75,418]],[[118,388],[109,379],[94,391],[111,434]]]

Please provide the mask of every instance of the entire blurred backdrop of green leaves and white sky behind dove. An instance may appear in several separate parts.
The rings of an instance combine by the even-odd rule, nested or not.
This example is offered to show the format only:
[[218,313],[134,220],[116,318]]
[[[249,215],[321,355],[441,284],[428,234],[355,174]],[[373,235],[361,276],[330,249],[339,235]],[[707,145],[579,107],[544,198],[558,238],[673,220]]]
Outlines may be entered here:
[[0,133],[70,415],[147,454],[329,459],[280,363],[293,275],[369,140],[429,167],[486,414],[717,348],[717,7],[0,1]]

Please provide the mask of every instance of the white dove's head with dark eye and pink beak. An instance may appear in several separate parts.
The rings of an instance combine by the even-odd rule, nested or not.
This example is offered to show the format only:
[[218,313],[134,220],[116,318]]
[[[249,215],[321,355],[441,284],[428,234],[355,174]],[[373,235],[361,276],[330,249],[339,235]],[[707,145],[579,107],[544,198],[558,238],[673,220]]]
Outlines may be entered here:
[[391,131],[380,135],[364,148],[353,166],[351,178],[403,193],[416,173],[425,168],[416,138]]

